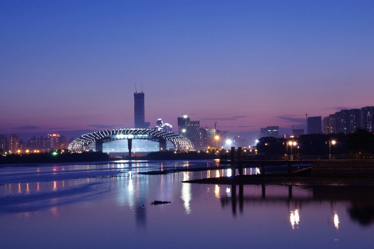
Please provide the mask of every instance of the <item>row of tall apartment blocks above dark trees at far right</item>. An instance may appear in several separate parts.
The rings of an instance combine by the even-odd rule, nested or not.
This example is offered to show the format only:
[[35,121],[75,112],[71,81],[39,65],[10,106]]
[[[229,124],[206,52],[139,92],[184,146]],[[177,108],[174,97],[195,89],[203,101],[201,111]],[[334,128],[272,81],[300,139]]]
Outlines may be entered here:
[[374,132],[374,106],[341,110],[324,118],[324,133],[354,133],[357,129]]

